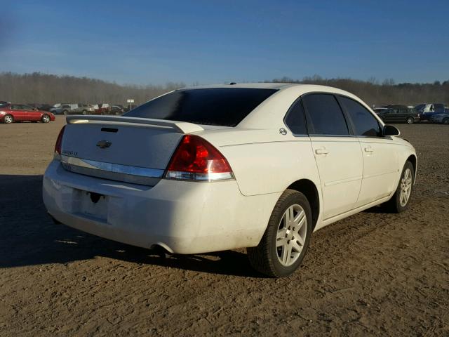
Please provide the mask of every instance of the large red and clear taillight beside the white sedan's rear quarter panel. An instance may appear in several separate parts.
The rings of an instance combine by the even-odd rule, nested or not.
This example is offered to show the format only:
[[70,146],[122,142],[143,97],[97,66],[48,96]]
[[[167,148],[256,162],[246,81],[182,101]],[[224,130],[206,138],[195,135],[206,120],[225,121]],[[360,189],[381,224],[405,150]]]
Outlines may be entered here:
[[211,181],[234,175],[226,158],[207,140],[185,135],[171,157],[166,178]]

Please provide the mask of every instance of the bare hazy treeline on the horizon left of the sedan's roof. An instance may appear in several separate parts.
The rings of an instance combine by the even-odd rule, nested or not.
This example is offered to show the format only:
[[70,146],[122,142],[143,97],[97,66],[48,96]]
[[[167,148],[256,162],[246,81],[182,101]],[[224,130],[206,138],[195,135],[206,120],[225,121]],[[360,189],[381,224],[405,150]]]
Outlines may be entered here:
[[165,86],[120,85],[87,77],[0,73],[0,100],[15,103],[109,103],[126,105],[128,98],[145,103],[162,93],[185,86],[168,83]]

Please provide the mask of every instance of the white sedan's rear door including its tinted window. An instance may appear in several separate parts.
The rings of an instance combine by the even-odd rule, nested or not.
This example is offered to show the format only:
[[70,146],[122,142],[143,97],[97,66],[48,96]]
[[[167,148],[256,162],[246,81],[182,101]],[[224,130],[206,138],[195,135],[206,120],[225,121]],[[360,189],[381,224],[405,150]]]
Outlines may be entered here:
[[335,96],[302,96],[323,194],[323,220],[354,209],[361,187],[363,159],[360,144],[349,133]]

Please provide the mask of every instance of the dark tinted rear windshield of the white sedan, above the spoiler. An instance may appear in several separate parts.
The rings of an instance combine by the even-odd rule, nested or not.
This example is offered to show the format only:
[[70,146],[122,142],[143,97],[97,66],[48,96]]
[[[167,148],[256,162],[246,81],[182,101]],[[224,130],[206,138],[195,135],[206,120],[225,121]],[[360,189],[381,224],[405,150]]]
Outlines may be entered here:
[[177,90],[150,100],[124,116],[236,126],[275,92],[275,89],[260,88]]

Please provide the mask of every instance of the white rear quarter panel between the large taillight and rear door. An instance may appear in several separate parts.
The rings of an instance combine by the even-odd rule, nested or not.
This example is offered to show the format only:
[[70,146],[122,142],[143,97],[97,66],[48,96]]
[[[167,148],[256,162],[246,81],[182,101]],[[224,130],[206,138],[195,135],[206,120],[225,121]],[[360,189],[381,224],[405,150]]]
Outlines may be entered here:
[[217,148],[229,161],[243,195],[283,192],[304,178],[320,190],[309,137],[295,137],[290,132],[284,136],[277,130],[232,129],[203,137],[215,146],[224,144]]

